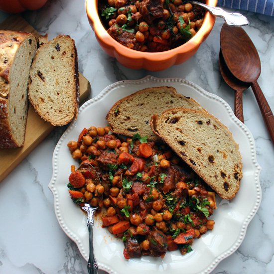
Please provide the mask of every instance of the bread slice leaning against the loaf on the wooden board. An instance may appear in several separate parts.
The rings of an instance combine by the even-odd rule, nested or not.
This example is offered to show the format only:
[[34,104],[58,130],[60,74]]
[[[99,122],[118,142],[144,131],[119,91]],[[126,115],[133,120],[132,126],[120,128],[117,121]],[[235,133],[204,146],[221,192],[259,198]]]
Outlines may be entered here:
[[76,119],[79,106],[77,51],[74,40],[59,35],[38,50],[29,72],[29,101],[53,126]]

